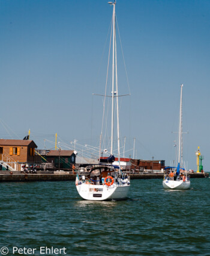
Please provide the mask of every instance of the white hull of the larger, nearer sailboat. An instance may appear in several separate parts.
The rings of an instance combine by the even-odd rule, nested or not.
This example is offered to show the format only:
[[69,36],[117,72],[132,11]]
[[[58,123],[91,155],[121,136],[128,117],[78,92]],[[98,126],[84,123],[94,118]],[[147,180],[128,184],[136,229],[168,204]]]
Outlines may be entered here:
[[117,186],[93,185],[82,183],[76,186],[77,192],[81,198],[85,200],[104,201],[104,200],[122,200],[126,199],[130,189],[130,185],[125,184]]

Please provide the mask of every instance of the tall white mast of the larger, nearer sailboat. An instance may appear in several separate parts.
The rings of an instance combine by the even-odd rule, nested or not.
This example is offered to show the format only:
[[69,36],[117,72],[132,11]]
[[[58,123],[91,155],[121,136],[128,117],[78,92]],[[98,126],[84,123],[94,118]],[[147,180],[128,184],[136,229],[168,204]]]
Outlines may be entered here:
[[115,2],[109,2],[113,5],[113,44],[112,44],[112,131],[111,131],[111,155],[113,154],[113,123],[114,123],[114,83],[115,83]]

